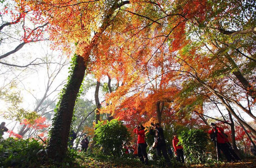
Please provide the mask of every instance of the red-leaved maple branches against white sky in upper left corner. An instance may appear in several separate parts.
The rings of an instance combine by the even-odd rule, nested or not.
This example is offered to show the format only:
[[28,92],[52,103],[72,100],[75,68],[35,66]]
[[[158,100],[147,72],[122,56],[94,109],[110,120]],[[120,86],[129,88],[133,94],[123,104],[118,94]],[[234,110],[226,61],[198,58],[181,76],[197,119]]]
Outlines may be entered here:
[[[29,6],[26,6],[25,1],[10,1],[12,5],[8,5],[7,1],[1,4],[4,6],[3,11],[0,12],[2,18],[2,23],[0,25],[0,45],[1,47],[8,47],[9,51],[3,50],[0,54],[0,59],[4,59],[18,50],[23,48],[24,45],[31,42],[39,42],[47,40],[45,37],[45,32],[49,29],[49,23],[46,18],[43,17],[38,10],[32,10]],[[22,31],[15,31],[21,29]],[[8,43],[17,44],[6,45]],[[34,61],[28,65],[35,64]],[[6,64],[16,67],[26,67],[22,65],[13,65],[5,62],[0,62],[1,64]]]

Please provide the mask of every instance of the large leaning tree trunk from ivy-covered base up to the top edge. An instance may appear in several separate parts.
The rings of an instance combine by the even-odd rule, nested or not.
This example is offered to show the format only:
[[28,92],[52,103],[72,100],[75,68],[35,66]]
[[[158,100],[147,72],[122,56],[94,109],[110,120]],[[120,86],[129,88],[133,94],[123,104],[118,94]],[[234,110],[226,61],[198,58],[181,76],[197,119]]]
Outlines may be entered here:
[[[62,95],[59,107],[57,109],[55,118],[53,120],[53,127],[51,130],[51,137],[49,145],[47,146],[49,156],[54,159],[61,161],[66,156],[67,152],[67,141],[70,133],[71,120],[73,116],[73,109],[75,106],[76,96],[79,92],[79,88],[84,78],[84,73],[89,61],[89,56],[93,47],[99,41],[100,35],[105,31],[112,21],[112,14],[121,6],[130,3],[130,1],[123,1],[121,3],[114,3],[111,8],[105,13],[105,17],[102,21],[102,25],[99,31],[93,36],[89,45],[84,46],[83,42],[78,44],[78,47],[84,48],[83,56],[77,57],[77,64],[73,69],[73,73],[70,75],[70,82],[66,85],[66,90]],[[84,60],[85,59],[85,60]],[[63,127],[62,127],[63,126]]]

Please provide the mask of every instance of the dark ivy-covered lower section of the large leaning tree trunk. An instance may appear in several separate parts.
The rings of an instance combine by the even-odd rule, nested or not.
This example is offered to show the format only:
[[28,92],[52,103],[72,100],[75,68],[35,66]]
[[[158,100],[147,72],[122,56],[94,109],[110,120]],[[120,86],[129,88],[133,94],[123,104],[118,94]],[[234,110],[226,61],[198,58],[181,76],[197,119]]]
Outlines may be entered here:
[[51,137],[47,149],[49,156],[54,160],[62,160],[67,152],[73,109],[81,83],[84,79],[85,70],[84,58],[76,55],[73,60],[70,76],[62,91],[62,97],[60,98],[55,117],[52,121],[53,127],[50,131]]

